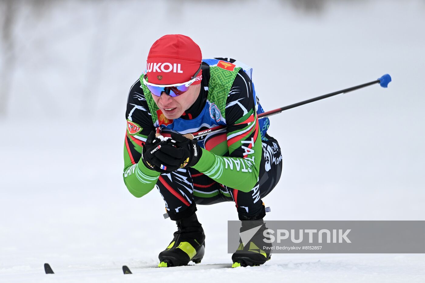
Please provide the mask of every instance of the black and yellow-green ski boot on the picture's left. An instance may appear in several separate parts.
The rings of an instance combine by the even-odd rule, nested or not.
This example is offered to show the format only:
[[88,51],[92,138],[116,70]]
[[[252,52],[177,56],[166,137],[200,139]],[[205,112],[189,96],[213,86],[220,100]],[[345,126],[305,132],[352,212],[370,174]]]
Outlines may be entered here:
[[158,267],[183,266],[191,260],[200,263],[205,252],[205,235],[196,213],[176,221],[177,231],[167,249],[159,253]]

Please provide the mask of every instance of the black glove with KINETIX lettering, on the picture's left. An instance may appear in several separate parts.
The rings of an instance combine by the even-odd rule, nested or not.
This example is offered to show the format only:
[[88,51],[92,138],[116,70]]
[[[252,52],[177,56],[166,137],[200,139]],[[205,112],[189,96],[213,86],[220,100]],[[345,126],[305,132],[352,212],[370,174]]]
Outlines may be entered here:
[[155,131],[150,132],[142,150],[142,162],[144,166],[159,173],[167,172],[164,169],[161,169],[161,164],[155,156],[155,153],[159,151],[159,148],[165,144],[167,144],[167,141],[164,141],[163,136],[155,137]]

